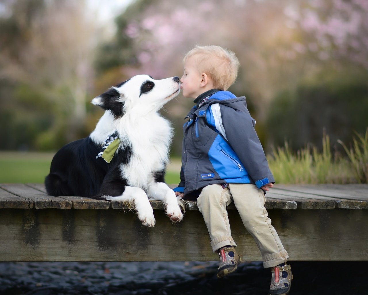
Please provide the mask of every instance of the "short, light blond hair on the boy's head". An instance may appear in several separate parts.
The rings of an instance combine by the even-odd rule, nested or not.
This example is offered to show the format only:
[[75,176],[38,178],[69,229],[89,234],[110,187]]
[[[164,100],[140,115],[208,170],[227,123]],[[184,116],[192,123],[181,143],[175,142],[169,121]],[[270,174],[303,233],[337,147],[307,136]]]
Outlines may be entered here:
[[238,75],[239,60],[234,52],[217,45],[195,46],[183,59],[196,59],[199,73],[206,73],[217,89],[227,90]]

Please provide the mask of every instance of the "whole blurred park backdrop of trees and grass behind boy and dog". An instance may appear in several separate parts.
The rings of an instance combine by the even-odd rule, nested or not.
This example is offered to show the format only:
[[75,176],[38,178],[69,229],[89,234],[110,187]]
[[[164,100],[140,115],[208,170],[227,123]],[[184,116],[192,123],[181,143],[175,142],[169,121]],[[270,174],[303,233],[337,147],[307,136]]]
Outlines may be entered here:
[[[94,129],[102,110],[92,98],[135,74],[181,77],[196,44],[236,53],[229,90],[247,97],[273,170],[285,174],[273,163],[281,156],[311,162],[309,174],[318,157],[335,170],[346,159],[349,175],[289,182],[367,182],[366,0],[2,0],[0,182],[42,182],[54,152]],[[192,105],[180,95],[162,110],[176,130],[175,173]],[[367,154],[363,176],[350,147]]]

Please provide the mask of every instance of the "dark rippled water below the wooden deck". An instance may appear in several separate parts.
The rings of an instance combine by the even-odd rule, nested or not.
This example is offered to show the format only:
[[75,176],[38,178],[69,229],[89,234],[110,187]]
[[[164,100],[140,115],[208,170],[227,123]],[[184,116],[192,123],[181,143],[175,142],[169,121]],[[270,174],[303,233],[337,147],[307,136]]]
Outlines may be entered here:
[[[290,261],[292,294],[367,295],[367,262]],[[267,294],[270,271],[259,262],[216,278],[217,262],[0,263],[0,294]]]

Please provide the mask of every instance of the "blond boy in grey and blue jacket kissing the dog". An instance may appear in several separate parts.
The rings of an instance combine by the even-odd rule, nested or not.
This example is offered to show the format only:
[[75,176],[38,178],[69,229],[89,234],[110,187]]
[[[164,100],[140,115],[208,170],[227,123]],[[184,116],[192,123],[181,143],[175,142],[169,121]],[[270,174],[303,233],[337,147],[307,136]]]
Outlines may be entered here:
[[197,197],[213,252],[218,252],[217,277],[236,270],[241,258],[231,237],[226,206],[232,201],[245,228],[271,267],[269,294],[287,294],[292,280],[284,250],[264,208],[265,192],[275,183],[254,130],[245,97],[226,91],[236,80],[239,61],[220,46],[197,46],[183,59],[183,96],[196,104],[183,126],[181,182],[174,189],[184,198]]

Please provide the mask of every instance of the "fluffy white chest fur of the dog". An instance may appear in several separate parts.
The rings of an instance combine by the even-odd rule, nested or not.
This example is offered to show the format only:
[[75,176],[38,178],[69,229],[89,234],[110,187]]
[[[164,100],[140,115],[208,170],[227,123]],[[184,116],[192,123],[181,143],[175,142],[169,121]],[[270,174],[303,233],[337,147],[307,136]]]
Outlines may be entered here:
[[126,114],[116,124],[120,147],[129,146],[132,152],[128,163],[120,166],[121,175],[128,185],[147,190],[168,162],[172,128],[158,113]]

